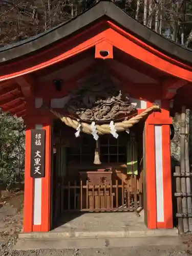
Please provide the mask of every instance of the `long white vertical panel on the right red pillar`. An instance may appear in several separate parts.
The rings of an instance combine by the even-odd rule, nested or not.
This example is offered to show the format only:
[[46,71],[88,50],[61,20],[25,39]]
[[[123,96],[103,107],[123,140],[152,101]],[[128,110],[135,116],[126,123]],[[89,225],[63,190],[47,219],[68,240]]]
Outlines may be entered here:
[[164,222],[163,205],[163,157],[162,157],[162,127],[155,125],[155,169],[156,169],[156,200],[157,222]]

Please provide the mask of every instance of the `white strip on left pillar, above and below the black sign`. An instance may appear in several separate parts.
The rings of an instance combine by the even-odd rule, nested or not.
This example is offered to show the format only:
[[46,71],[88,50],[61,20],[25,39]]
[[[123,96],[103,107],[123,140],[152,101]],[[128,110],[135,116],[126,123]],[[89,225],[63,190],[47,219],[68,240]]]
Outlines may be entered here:
[[[42,124],[36,124],[35,129],[41,130]],[[34,178],[33,225],[41,224],[41,183],[41,178]]]

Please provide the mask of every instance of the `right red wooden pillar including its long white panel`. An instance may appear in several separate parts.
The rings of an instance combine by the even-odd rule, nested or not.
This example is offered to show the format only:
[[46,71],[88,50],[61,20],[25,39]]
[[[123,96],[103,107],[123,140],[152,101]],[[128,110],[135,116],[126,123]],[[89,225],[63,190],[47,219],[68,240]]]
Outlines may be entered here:
[[[152,103],[147,102],[147,107]],[[170,126],[168,102],[161,113],[145,122],[145,223],[148,228],[172,228],[172,177],[170,165]]]

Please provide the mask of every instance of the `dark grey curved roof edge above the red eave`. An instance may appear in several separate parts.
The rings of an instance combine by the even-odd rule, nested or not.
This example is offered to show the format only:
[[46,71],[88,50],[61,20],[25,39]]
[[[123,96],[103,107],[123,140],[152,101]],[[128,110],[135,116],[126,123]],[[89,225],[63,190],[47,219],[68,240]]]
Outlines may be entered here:
[[44,33],[0,48],[0,63],[11,61],[29,53],[35,54],[35,51],[51,45],[60,39],[67,38],[80,29],[86,29],[88,25],[102,18],[113,20],[118,26],[131,32],[137,38],[146,42],[146,44],[153,46],[166,55],[189,65],[192,64],[191,49],[182,47],[148,29],[109,0],[98,2],[77,17]]

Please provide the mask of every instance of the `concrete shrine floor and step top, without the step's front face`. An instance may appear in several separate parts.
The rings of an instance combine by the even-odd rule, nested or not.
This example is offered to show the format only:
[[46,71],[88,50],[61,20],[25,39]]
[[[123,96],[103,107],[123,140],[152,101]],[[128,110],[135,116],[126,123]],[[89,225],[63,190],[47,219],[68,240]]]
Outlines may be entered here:
[[177,229],[148,229],[144,212],[98,212],[66,214],[58,227],[45,233],[20,233],[19,238],[125,238],[143,236],[177,236]]

